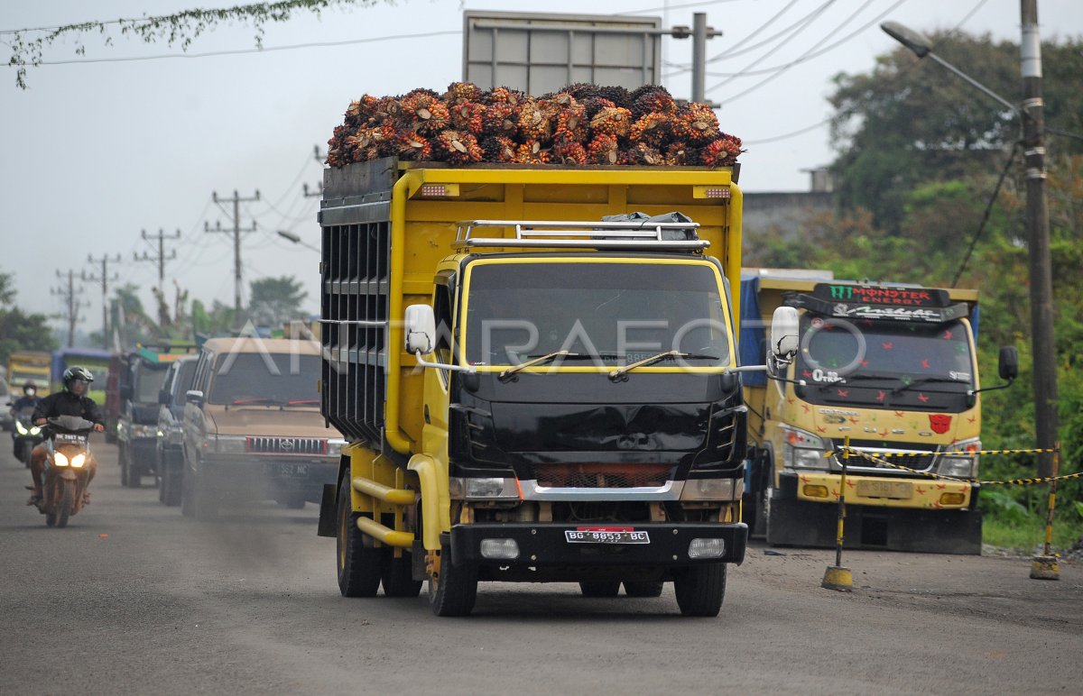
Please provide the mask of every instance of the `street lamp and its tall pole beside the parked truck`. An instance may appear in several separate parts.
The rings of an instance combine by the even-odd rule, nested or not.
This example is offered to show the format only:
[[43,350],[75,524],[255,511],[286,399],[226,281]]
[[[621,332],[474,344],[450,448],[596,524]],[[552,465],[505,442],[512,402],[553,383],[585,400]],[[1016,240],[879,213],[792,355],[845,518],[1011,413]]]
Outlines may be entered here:
[[[898,22],[885,22],[884,31],[914,52],[932,58],[969,84],[1019,116],[1027,167],[1027,246],[1030,267],[1031,353],[1034,384],[1034,432],[1040,449],[1057,443],[1057,353],[1053,332],[1053,272],[1049,253],[1049,213],[1045,202],[1045,117],[1042,102],[1042,54],[1038,37],[1038,2],[1020,0],[1022,41],[1022,106],[1016,106],[932,52],[932,42]],[[1039,476],[1053,475],[1053,456],[1039,456]]]

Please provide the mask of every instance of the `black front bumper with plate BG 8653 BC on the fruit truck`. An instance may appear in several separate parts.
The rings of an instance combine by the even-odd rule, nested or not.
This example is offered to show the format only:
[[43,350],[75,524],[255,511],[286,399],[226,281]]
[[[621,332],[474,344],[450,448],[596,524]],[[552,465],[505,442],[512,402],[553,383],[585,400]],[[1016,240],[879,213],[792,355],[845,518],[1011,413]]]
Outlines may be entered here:
[[[644,533],[638,539],[647,542],[591,542],[584,540],[584,530],[621,528]],[[492,557],[483,552],[488,539],[510,539],[518,547],[514,559]],[[693,540],[719,540],[720,555],[690,556]],[[583,577],[583,570],[621,568],[678,568],[705,563],[741,563],[748,541],[748,527],[743,523],[651,523],[651,524],[460,524],[452,527],[452,563],[493,565],[501,568],[565,569]],[[696,546],[704,542],[697,542]],[[485,544],[486,547],[488,544]],[[717,549],[716,542],[708,542]],[[545,575],[544,573],[540,575]]]

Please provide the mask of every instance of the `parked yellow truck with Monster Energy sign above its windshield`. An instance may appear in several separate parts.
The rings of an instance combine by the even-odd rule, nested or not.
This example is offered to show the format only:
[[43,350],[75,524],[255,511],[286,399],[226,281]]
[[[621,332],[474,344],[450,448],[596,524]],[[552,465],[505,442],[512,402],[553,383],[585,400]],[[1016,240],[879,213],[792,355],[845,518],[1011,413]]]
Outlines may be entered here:
[[[834,546],[838,448],[848,442],[846,547],[980,553],[978,292],[755,270],[741,297],[744,360],[761,359],[775,308],[799,318],[784,381],[742,376],[753,445],[743,514],[753,535]],[[1000,357],[1010,383],[1015,349]]]

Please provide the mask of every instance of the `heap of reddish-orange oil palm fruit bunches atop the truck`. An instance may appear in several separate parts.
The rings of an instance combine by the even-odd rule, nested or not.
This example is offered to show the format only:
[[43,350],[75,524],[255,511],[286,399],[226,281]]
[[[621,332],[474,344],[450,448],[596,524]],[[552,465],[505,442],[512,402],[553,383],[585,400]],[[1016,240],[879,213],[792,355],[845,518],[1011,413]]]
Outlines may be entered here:
[[532,96],[453,82],[439,94],[365,94],[328,141],[327,163],[418,161],[729,167],[741,139],[706,104],[677,104],[664,87],[586,82]]

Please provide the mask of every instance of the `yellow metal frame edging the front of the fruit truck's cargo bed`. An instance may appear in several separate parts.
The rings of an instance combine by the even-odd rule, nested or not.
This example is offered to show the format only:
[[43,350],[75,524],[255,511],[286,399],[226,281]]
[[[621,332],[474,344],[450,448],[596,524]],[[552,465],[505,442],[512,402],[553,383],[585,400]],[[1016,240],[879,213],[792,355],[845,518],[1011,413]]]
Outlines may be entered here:
[[[741,189],[733,184],[731,171],[728,169],[669,169],[669,168],[613,168],[613,169],[481,169],[481,168],[447,168],[423,169],[415,168],[410,162],[400,165],[403,170],[395,182],[391,195],[391,262],[389,268],[389,315],[391,321],[388,330],[387,355],[387,402],[384,405],[384,438],[395,451],[408,455],[417,451],[418,446],[402,430],[401,408],[403,405],[402,373],[403,368],[403,297],[407,287],[405,278],[406,258],[406,201],[417,194],[425,184],[457,184],[466,185],[560,185],[575,186],[608,186],[612,196],[609,206],[614,213],[628,212],[627,197],[623,195],[629,186],[650,186],[660,191],[674,187],[686,187],[691,199],[694,186],[729,187],[730,198],[717,201],[704,201],[701,205],[728,207],[728,214],[718,232],[701,229],[702,236],[710,239],[712,253],[719,258],[726,277],[730,280],[732,306],[728,307],[733,324],[739,326],[740,315],[740,279],[741,279],[741,213],[743,198]],[[509,199],[512,198],[507,191]],[[616,209],[621,201],[621,209]],[[521,203],[520,199],[520,203]],[[660,203],[667,202],[660,197]],[[452,209],[454,203],[448,203]],[[510,202],[509,202],[510,205]],[[636,203],[640,206],[640,203]],[[643,203],[643,207],[648,207]],[[559,210],[560,206],[556,206]],[[447,220],[454,224],[456,219]],[[714,238],[712,238],[714,237]],[[413,289],[413,288],[412,288]],[[408,357],[408,356],[407,356]],[[665,369],[665,368],[658,368]],[[422,486],[423,488],[423,486]]]

